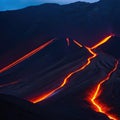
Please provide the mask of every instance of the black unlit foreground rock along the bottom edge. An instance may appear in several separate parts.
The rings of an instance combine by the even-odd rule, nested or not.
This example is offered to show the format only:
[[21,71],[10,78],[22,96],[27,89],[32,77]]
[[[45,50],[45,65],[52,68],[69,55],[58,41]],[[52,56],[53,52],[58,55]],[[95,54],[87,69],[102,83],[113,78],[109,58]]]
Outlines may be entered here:
[[[94,113],[89,109],[81,108],[78,116],[72,117],[74,111],[71,111],[72,115],[70,113],[70,108],[69,110],[67,109],[68,114],[65,114],[65,109],[61,109],[60,104],[57,106],[58,108],[54,108],[54,105],[51,109],[49,107],[38,107],[25,100],[3,94],[0,95],[0,106],[1,120],[108,120],[104,115]],[[60,111],[55,112],[54,110],[56,109],[59,109]]]

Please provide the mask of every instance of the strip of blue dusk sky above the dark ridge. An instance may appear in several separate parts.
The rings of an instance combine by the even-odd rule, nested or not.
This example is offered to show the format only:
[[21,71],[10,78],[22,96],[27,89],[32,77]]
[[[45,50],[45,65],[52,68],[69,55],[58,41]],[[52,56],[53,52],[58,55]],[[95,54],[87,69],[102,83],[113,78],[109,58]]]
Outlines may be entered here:
[[0,0],[0,11],[21,9],[43,3],[67,4],[76,1],[96,2],[99,0]]

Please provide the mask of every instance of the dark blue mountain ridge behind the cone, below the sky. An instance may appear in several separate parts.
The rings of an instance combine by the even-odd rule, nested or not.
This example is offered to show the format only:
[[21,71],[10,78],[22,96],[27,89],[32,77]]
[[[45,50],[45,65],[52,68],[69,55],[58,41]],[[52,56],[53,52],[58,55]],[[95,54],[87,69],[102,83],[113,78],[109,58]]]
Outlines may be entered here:
[[119,5],[119,0],[100,0],[0,12],[0,63],[53,37],[71,37],[90,46],[107,34],[120,34]]

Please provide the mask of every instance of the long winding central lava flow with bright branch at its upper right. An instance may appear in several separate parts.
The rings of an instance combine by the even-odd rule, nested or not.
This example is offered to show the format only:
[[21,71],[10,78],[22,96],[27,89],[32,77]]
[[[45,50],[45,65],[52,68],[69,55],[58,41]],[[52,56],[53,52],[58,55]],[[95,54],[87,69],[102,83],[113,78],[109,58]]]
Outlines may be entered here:
[[[97,56],[97,53],[95,53],[93,50],[97,47],[99,47],[100,45],[104,44],[105,42],[107,42],[113,35],[109,35],[107,36],[105,39],[101,40],[99,43],[97,43],[95,46],[93,46],[92,48],[89,48],[89,47],[86,47],[86,49],[92,54],[92,56],[90,56],[88,59],[87,59],[87,62],[85,64],[83,64],[83,66],[81,66],[79,69],[69,73],[63,80],[62,84],[55,88],[54,90],[51,90],[47,93],[44,93],[43,95],[39,95],[37,97],[33,97],[33,98],[30,98],[29,101],[32,102],[32,103],[38,103],[38,102],[41,102],[45,99],[47,99],[48,97],[52,96],[56,91],[58,91],[59,89],[63,88],[68,80],[70,79],[71,76],[73,76],[75,73],[77,72],[80,72],[82,70],[84,70],[90,63],[91,63],[91,60],[94,59],[96,56]],[[67,41],[69,41],[69,39],[67,38],[66,39]],[[79,46],[80,48],[82,47],[82,45],[77,42],[76,40],[73,40],[74,43]],[[69,42],[68,42],[68,45],[69,45]]]

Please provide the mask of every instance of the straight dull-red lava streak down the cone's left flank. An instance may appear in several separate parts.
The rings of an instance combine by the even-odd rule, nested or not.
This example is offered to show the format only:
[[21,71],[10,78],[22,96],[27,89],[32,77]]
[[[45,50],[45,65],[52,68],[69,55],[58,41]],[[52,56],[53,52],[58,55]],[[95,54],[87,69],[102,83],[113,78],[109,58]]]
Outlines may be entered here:
[[17,64],[21,63],[22,61],[26,60],[27,58],[31,57],[32,55],[36,54],[37,52],[39,52],[40,50],[42,50],[43,48],[45,48],[46,46],[48,46],[50,43],[53,42],[54,39],[46,42],[45,44],[39,46],[38,48],[32,50],[31,52],[27,53],[26,55],[24,55],[23,57],[21,57],[20,59],[14,61],[13,63],[9,64],[8,66],[0,69],[0,73],[3,73],[7,70],[9,70],[10,68],[16,66]]

